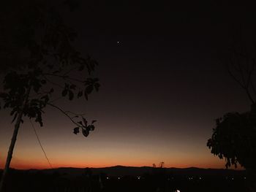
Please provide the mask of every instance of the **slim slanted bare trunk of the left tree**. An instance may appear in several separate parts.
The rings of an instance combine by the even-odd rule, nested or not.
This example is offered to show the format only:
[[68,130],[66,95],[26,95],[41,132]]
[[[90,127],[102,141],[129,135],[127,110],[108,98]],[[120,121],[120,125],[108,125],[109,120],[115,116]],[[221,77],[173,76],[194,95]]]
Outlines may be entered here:
[[4,180],[6,178],[8,170],[10,168],[10,164],[11,164],[11,161],[12,161],[12,153],[13,153],[13,149],[15,147],[15,142],[16,142],[17,135],[18,135],[18,130],[20,128],[20,123],[21,123],[22,116],[23,116],[23,110],[24,110],[24,107],[26,106],[26,103],[28,101],[30,91],[31,91],[31,86],[29,86],[29,88],[27,89],[26,95],[25,95],[24,100],[23,100],[23,105],[20,109],[20,112],[18,112],[18,117],[17,117],[16,123],[15,123],[15,128],[14,128],[13,134],[12,134],[12,141],[11,141],[11,144],[10,144],[10,147],[9,147],[9,150],[8,150],[8,154],[7,154],[7,161],[5,163],[4,171],[3,171],[3,174],[1,176],[0,192],[3,192],[3,190],[4,190]]

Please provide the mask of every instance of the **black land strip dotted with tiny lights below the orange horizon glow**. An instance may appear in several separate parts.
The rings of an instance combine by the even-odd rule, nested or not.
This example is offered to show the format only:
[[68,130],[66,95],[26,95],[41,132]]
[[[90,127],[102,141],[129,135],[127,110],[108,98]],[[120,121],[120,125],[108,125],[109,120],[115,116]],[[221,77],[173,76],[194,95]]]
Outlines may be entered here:
[[102,169],[12,169],[7,178],[5,191],[249,191],[249,181],[245,172],[207,169],[146,170],[148,172],[145,173],[140,173],[141,170],[137,169],[133,172],[127,170],[129,174],[124,174],[124,167],[107,168],[104,169],[105,173],[101,172]]

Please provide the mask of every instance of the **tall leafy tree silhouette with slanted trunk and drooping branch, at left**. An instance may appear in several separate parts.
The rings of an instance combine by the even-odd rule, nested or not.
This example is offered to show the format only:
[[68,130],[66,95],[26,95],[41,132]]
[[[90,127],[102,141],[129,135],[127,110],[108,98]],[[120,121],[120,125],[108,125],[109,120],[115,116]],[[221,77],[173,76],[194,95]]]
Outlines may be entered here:
[[[74,8],[74,1],[64,4]],[[25,117],[43,126],[45,107],[53,107],[75,124],[74,134],[82,131],[88,137],[94,131],[95,120],[88,123],[83,115],[67,112],[55,102],[61,98],[88,100],[90,93],[99,90],[99,80],[93,76],[97,61],[82,57],[72,45],[76,34],[65,25],[59,12],[64,4],[31,0],[5,1],[1,6],[4,25],[1,25],[0,57],[4,82],[0,107],[11,110],[15,128],[0,191]]]

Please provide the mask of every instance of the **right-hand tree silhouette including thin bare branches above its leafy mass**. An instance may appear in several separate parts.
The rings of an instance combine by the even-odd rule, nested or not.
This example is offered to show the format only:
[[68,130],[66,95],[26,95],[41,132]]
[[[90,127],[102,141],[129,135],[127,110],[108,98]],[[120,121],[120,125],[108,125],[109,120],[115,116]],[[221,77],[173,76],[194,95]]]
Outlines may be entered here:
[[[241,34],[240,34],[241,36]],[[256,42],[252,47],[244,43],[242,38],[234,41],[230,46],[225,66],[227,72],[238,85],[244,89],[252,105],[248,112],[228,112],[222,118],[216,120],[216,128],[213,130],[207,146],[211,153],[219,158],[225,158],[226,167],[238,164],[244,166],[255,183],[256,179]],[[255,190],[256,186],[252,186]]]

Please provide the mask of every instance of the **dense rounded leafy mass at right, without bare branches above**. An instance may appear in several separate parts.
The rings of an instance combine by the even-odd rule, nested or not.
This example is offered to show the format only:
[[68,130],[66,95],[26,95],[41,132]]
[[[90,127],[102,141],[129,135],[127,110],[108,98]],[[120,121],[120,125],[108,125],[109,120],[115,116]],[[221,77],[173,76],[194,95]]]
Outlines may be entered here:
[[207,146],[211,153],[225,158],[226,167],[241,164],[256,171],[256,110],[229,112],[216,120],[216,128]]

